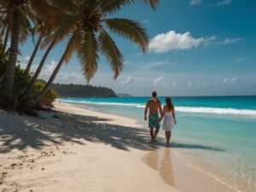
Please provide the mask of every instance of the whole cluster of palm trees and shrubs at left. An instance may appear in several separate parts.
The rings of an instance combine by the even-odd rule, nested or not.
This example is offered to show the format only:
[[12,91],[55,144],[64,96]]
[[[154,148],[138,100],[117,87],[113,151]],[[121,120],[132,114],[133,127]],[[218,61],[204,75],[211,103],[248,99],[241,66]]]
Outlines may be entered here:
[[[44,105],[42,98],[49,93],[61,66],[74,54],[78,55],[87,83],[96,73],[100,54],[109,62],[113,79],[117,79],[123,70],[124,58],[111,34],[129,39],[143,53],[148,50],[148,34],[140,22],[113,18],[113,14],[136,3],[144,3],[155,10],[159,0],[0,0],[2,52],[7,53],[3,75],[0,74],[1,107],[24,111]],[[17,66],[17,56],[22,54],[19,44],[28,37],[35,42],[35,47],[23,70]],[[49,53],[62,41],[67,44],[60,61],[48,81],[39,86],[38,77]],[[39,49],[44,55],[37,70],[31,73]],[[19,84],[15,83],[17,79],[20,79]]]

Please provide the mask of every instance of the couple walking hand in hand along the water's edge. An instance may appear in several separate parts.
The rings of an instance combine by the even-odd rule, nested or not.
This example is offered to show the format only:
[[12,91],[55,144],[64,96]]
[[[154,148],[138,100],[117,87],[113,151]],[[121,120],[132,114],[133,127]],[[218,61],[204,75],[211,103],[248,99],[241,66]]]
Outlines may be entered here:
[[[145,117],[144,119],[147,121],[148,119],[148,127],[150,129],[151,142],[157,143],[155,137],[157,136],[160,129],[160,121],[164,119],[164,123],[162,125],[163,130],[166,131],[166,143],[170,144],[171,131],[176,125],[176,117],[174,113],[174,106],[172,105],[172,99],[170,97],[166,97],[166,105],[162,110],[161,102],[156,98],[156,91],[152,92],[152,99],[147,102],[145,108]],[[149,109],[149,115],[147,118]],[[160,118],[159,113],[160,112]],[[155,130],[154,130],[155,129]]]

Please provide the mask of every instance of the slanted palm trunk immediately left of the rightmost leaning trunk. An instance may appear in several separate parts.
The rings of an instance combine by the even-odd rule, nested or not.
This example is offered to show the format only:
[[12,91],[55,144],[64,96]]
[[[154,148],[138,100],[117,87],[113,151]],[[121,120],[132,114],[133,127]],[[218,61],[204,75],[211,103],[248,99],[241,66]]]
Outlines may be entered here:
[[31,82],[28,84],[26,90],[20,96],[20,102],[22,102],[24,99],[26,99],[26,97],[28,97],[30,95],[30,93],[32,92],[33,86],[34,86],[35,82],[37,81],[38,76],[42,71],[42,68],[44,67],[44,62],[45,62],[47,56],[49,55],[50,50],[53,49],[55,43],[56,43],[56,38],[54,38],[52,40],[52,42],[49,44],[48,49],[45,51],[44,56],[38,66],[36,73],[34,74]]

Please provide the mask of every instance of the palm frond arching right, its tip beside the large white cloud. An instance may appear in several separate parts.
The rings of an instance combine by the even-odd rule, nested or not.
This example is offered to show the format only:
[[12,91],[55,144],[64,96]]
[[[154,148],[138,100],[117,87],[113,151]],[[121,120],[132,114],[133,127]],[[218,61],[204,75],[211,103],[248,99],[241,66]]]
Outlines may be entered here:
[[128,38],[132,42],[138,44],[143,53],[148,50],[148,34],[146,29],[141,26],[141,24],[134,20],[126,19],[106,19],[104,21],[110,32],[117,33],[119,36]]

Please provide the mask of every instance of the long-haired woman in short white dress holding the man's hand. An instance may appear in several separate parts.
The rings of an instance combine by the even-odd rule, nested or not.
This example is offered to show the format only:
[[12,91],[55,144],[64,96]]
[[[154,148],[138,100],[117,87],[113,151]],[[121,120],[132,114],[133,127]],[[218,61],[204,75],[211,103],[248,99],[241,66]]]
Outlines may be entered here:
[[166,97],[166,105],[164,111],[161,115],[160,121],[164,118],[163,130],[166,131],[166,143],[170,144],[171,131],[173,130],[174,125],[177,125],[174,106],[172,105],[172,99]]

